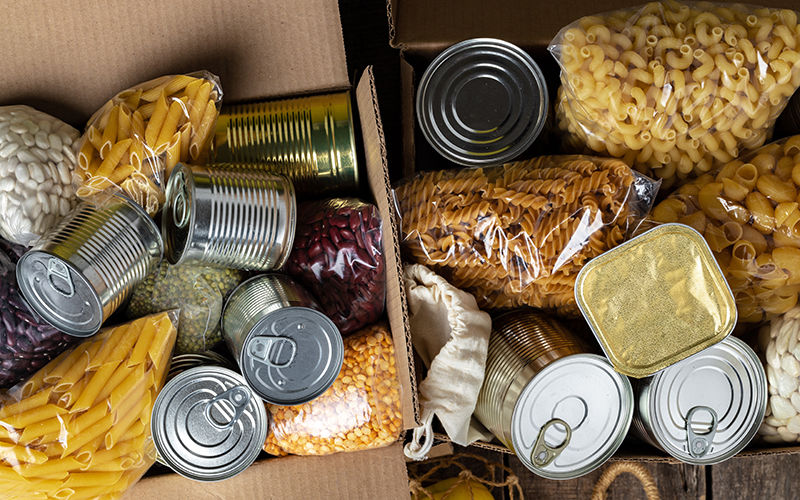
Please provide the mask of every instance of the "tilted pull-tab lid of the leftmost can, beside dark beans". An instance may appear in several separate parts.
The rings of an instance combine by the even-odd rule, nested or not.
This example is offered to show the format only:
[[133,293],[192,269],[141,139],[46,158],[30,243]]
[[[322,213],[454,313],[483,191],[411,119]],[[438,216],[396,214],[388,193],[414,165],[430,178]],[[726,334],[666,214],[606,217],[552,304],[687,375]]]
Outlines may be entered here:
[[58,330],[75,337],[89,337],[100,330],[100,297],[70,262],[31,250],[17,263],[17,283],[31,309]]

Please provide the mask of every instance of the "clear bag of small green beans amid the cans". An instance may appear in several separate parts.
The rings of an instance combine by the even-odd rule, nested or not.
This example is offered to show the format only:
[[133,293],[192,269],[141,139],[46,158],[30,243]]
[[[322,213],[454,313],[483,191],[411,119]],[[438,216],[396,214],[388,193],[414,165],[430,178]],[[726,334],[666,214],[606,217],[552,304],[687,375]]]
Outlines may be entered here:
[[225,298],[243,279],[235,269],[164,261],[133,288],[125,315],[133,319],[180,308],[175,354],[208,351],[222,341]]

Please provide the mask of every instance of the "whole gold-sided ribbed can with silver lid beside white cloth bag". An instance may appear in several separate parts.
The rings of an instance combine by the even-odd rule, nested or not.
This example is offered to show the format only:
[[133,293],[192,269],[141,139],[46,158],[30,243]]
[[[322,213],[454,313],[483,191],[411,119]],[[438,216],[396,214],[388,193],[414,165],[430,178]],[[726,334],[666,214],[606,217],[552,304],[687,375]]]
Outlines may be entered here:
[[574,479],[622,444],[633,390],[555,321],[517,310],[493,322],[475,415],[535,474]]

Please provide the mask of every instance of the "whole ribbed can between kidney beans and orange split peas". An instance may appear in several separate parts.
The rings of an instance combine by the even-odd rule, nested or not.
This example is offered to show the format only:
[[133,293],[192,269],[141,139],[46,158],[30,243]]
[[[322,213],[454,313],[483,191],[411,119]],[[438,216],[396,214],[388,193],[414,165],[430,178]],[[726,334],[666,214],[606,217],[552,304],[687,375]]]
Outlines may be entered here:
[[330,387],[344,360],[338,328],[288,276],[237,287],[222,312],[222,336],[245,380],[267,403],[307,403]]

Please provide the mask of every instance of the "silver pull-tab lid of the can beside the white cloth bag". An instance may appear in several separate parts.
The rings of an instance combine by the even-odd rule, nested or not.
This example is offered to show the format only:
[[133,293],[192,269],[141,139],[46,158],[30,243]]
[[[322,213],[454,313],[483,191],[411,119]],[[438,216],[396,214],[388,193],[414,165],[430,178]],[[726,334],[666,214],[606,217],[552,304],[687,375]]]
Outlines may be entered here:
[[633,417],[627,377],[595,354],[558,359],[523,389],[511,417],[514,452],[535,474],[574,479],[622,444]]

